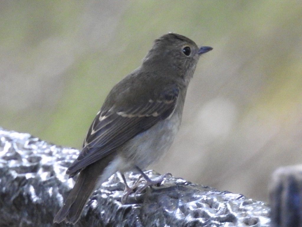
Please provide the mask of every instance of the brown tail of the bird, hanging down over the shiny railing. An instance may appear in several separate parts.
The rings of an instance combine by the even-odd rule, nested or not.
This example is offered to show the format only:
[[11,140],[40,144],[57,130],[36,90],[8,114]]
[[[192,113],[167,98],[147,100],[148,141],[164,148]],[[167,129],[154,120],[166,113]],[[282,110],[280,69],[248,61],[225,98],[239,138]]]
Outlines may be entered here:
[[114,171],[114,168],[110,168],[111,173],[104,174],[108,177],[104,179],[102,176],[104,172],[108,172],[105,170],[105,168],[108,166],[111,160],[111,155],[108,155],[102,160],[87,166],[80,172],[76,184],[73,189],[71,189],[66,202],[54,217],[54,223],[60,223],[65,220],[66,223],[74,224],[79,220],[84,206],[88,198],[92,195],[92,192],[94,192],[95,187],[100,183],[103,183],[101,182],[102,180],[100,181],[100,179],[105,181],[109,176],[117,171]]

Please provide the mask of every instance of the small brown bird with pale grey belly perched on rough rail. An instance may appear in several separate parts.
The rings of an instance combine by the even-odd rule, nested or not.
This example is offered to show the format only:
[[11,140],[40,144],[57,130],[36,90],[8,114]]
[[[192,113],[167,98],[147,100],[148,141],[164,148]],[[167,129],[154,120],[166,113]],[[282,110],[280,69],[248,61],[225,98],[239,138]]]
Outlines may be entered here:
[[89,197],[111,175],[142,171],[172,145],[180,127],[188,84],[201,54],[194,41],[176,33],[156,39],[140,67],[109,92],[85,137],[82,151],[66,174],[79,174],[54,223],[76,223]]

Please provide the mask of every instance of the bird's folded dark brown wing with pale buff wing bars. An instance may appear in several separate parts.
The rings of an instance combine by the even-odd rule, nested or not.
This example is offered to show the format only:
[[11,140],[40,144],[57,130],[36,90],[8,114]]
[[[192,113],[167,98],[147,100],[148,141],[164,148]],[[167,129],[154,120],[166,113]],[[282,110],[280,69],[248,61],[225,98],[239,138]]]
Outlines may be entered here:
[[179,89],[174,86],[162,92],[156,100],[148,100],[128,109],[101,109],[90,126],[84,148],[67,169],[70,177],[81,169],[107,156],[135,135],[149,129],[174,111]]

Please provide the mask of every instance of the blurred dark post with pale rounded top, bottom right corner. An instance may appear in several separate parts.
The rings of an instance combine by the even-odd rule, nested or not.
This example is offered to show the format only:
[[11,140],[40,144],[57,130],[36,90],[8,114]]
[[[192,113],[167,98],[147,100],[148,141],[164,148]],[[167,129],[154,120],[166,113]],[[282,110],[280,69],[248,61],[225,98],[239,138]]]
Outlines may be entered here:
[[302,165],[285,166],[274,172],[270,203],[272,226],[302,226]]

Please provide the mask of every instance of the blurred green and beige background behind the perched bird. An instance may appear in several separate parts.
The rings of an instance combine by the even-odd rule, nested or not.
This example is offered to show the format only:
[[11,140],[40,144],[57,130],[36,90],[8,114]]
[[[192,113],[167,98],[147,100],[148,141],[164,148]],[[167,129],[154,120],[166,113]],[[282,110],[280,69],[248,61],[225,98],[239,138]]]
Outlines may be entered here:
[[214,48],[182,126],[151,166],[268,199],[274,169],[302,163],[300,1],[0,1],[0,126],[81,148],[111,88],[172,31]]

